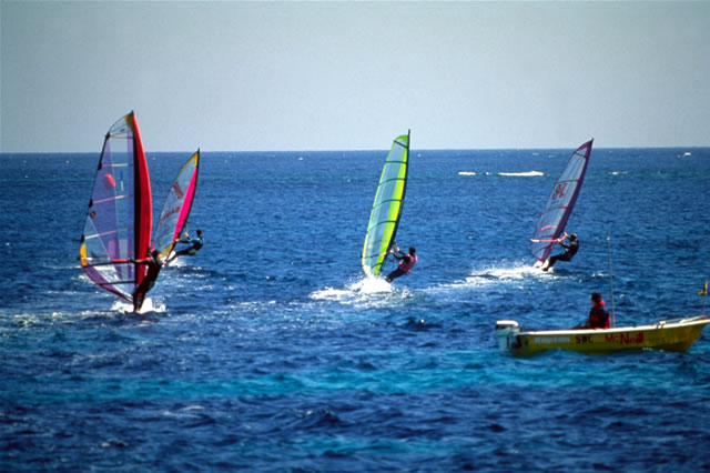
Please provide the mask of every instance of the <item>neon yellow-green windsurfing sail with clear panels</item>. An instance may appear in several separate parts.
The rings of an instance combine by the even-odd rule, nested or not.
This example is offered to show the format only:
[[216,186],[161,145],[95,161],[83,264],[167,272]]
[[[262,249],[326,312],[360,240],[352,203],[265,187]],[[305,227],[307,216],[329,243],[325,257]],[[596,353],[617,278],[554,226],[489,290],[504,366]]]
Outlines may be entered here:
[[395,241],[409,167],[409,132],[397,137],[385,161],[369,214],[362,263],[365,274],[377,278]]

